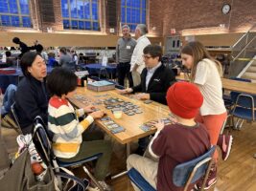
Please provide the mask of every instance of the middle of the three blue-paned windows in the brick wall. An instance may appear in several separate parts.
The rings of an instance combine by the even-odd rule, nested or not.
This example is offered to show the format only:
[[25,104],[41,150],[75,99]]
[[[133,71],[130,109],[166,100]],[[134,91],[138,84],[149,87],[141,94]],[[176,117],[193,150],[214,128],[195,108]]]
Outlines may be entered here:
[[98,0],[61,0],[65,30],[100,31]]

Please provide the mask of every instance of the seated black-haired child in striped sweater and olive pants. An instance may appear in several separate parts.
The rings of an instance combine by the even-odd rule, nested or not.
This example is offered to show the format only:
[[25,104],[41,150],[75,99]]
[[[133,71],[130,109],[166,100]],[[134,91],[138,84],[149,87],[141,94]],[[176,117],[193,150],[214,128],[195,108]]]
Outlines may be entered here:
[[[48,106],[48,128],[53,132],[53,150],[61,161],[78,161],[102,153],[97,160],[94,175],[99,183],[110,190],[105,183],[111,158],[110,141],[99,132],[86,132],[96,118],[104,116],[103,111],[93,112],[92,106],[74,110],[67,97],[76,94],[77,75],[64,68],[56,68],[47,78],[51,98]],[[81,122],[78,117],[89,113]]]

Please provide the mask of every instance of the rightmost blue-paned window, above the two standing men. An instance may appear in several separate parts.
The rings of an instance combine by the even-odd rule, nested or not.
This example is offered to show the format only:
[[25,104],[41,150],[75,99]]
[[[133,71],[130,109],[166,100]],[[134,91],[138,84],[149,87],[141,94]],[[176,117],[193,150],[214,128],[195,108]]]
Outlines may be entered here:
[[146,24],[146,0],[122,0],[121,22],[127,24],[131,32],[137,24]]

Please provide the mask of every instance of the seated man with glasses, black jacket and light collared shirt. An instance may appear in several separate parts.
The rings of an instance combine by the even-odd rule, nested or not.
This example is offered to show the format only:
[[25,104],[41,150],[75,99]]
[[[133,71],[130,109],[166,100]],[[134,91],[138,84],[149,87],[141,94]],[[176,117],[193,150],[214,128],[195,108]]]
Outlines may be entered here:
[[175,74],[161,63],[162,48],[158,45],[148,45],[144,50],[146,68],[141,74],[141,83],[138,86],[121,90],[121,94],[140,93],[139,99],[151,99],[167,104],[166,93],[175,83]]

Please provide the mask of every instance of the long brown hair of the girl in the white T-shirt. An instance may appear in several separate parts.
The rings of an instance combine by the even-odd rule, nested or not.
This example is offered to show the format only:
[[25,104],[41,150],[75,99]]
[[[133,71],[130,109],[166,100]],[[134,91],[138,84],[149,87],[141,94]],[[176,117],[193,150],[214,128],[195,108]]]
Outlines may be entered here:
[[191,81],[195,80],[198,63],[204,58],[208,58],[214,61],[216,63],[216,67],[218,69],[219,74],[222,75],[221,63],[218,60],[214,59],[210,55],[210,53],[207,52],[205,47],[200,42],[198,41],[189,42],[187,45],[185,45],[185,47],[181,49],[181,53],[189,54],[194,59],[193,67],[191,69],[191,74],[187,74],[189,75],[189,79]]

